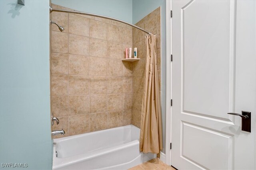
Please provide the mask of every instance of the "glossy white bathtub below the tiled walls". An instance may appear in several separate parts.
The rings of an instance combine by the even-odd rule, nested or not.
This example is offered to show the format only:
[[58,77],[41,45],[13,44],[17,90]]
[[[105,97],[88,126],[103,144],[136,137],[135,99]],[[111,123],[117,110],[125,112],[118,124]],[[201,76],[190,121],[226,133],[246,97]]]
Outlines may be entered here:
[[[127,125],[54,139],[53,170],[126,170],[156,157],[139,149],[140,129]],[[58,156],[56,157],[56,151]]]

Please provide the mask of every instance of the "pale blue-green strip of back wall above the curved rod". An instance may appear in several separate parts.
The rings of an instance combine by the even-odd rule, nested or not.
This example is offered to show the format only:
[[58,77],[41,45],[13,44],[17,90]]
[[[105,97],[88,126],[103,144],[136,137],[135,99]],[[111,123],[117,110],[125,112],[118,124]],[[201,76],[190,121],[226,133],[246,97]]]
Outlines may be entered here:
[[52,0],[52,4],[132,23],[132,0]]

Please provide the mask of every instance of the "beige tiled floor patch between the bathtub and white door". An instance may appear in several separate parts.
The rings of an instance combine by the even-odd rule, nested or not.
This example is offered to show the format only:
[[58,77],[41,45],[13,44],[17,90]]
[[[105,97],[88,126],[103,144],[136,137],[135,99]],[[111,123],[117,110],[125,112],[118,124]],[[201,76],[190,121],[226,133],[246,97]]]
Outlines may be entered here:
[[134,166],[129,170],[176,170],[172,166],[164,164],[159,158],[154,158],[143,164]]

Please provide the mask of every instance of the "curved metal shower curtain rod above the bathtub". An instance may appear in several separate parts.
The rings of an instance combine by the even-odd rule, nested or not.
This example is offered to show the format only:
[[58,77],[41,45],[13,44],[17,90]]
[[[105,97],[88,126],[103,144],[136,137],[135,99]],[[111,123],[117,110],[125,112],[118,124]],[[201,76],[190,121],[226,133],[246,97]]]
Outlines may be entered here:
[[145,29],[142,29],[141,27],[138,27],[136,25],[133,25],[131,23],[128,23],[126,21],[122,21],[122,20],[118,20],[116,18],[111,18],[111,17],[107,17],[107,16],[101,16],[101,15],[97,15],[97,14],[92,14],[92,13],[87,13],[87,12],[80,12],[80,11],[72,11],[72,10],[61,10],[61,9],[55,9],[55,8],[52,8],[50,6],[50,13],[52,12],[66,12],[66,13],[72,13],[72,14],[82,14],[82,15],[88,15],[88,16],[95,16],[95,17],[100,17],[100,18],[105,18],[105,19],[109,19],[109,20],[114,20],[114,21],[118,21],[118,22],[121,22],[121,23],[125,23],[127,25],[130,25],[134,28],[137,28],[137,29],[140,29],[141,31],[147,33],[147,34],[150,34],[150,32],[146,31]]

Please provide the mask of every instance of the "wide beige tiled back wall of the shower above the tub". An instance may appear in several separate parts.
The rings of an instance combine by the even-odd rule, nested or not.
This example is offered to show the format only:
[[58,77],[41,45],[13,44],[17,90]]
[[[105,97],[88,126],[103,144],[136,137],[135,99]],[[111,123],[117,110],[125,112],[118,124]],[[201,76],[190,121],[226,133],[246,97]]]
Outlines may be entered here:
[[52,21],[65,28],[52,25],[51,107],[60,120],[53,130],[66,132],[54,137],[130,125],[133,64],[121,59],[132,47],[132,27],[61,12],[52,12]]

